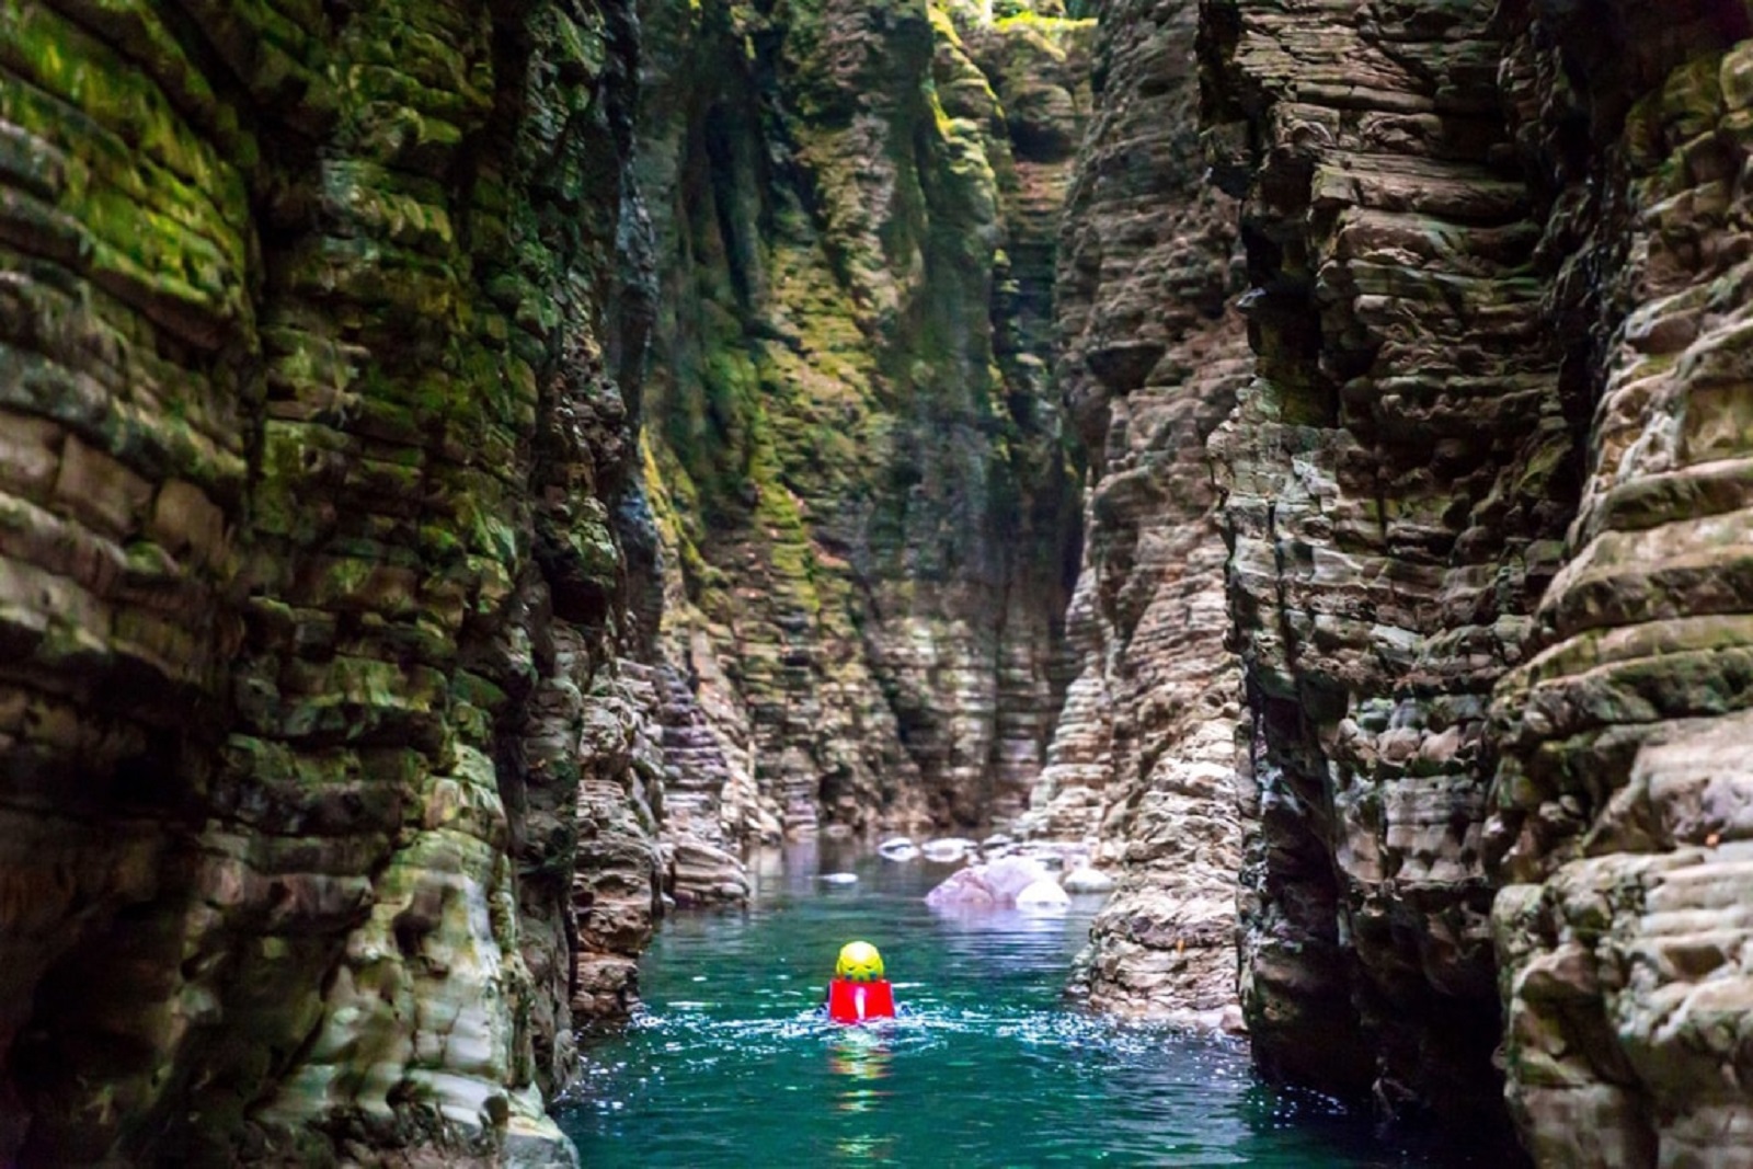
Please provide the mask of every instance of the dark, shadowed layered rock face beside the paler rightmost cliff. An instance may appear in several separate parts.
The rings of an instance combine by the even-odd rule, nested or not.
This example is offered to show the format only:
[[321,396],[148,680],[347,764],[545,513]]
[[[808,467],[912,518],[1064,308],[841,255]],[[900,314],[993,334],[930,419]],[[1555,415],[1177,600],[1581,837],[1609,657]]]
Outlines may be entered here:
[[1255,377],[1220,436],[1260,1066],[1502,1130],[1494,684],[1564,554],[1574,429],[1492,4],[1211,0]]

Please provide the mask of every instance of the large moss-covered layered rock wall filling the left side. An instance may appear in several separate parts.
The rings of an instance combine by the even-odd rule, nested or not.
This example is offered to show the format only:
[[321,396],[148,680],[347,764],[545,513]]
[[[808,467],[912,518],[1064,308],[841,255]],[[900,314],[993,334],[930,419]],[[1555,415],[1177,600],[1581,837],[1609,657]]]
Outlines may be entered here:
[[659,882],[631,11],[0,26],[0,1162],[570,1162]]

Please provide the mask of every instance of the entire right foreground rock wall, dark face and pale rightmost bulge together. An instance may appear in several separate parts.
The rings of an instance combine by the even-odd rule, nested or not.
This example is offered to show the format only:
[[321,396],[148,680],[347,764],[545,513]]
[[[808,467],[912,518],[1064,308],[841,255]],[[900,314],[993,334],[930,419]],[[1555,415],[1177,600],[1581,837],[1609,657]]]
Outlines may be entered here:
[[1502,1067],[1541,1164],[1746,1164],[1753,14],[1201,18],[1257,1059],[1474,1132]]

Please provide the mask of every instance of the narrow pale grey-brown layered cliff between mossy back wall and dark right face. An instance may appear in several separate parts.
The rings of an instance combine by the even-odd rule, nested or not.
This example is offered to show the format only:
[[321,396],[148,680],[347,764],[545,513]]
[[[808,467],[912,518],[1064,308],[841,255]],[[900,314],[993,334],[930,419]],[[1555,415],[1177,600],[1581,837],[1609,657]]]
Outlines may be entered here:
[[1097,114],[1059,252],[1059,384],[1090,452],[1068,615],[1082,671],[1029,831],[1092,838],[1118,889],[1090,1003],[1234,1022],[1239,662],[1208,440],[1252,370],[1236,203],[1204,182],[1197,4],[1101,7]]

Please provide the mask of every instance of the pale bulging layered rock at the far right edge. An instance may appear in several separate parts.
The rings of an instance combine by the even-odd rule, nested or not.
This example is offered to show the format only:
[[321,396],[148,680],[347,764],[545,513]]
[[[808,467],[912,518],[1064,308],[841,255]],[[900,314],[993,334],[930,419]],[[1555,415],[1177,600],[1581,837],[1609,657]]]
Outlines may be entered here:
[[1508,1094],[1543,1164],[1753,1164],[1753,14],[1502,18],[1586,424],[1494,706]]

